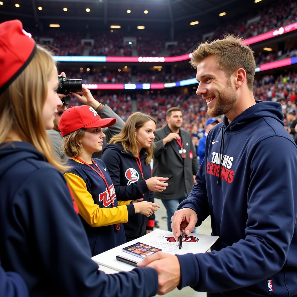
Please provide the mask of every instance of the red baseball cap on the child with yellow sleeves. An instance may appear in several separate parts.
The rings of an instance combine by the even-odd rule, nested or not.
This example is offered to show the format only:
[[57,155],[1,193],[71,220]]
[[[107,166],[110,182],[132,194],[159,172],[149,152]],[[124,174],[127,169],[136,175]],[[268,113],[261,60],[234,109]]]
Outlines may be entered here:
[[65,110],[59,121],[58,129],[65,135],[81,128],[109,127],[116,123],[116,118],[101,119],[88,105],[71,106]]

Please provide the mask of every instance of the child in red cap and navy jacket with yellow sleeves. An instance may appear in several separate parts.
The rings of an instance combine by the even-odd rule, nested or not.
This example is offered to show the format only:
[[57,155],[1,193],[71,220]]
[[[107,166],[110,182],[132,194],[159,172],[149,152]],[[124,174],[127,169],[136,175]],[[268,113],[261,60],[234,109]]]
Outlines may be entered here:
[[92,158],[95,151],[102,150],[105,135],[101,128],[115,122],[114,118],[101,119],[93,108],[81,105],[66,110],[59,123],[64,152],[70,157],[67,165],[71,167],[64,176],[78,205],[93,256],[126,242],[122,223],[127,223],[128,217],[149,217],[159,207],[154,201],[139,202],[142,197],[118,201],[108,168],[102,160]]

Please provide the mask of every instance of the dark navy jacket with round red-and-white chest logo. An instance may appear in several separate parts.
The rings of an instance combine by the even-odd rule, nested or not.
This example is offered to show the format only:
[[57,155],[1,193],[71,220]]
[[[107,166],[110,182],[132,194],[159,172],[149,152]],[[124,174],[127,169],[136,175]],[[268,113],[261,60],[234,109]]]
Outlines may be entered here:
[[[145,179],[151,177],[151,166],[145,163],[147,155],[140,151],[140,162]],[[154,202],[154,194],[151,192],[146,181],[142,180],[141,172],[132,153],[125,152],[120,143],[109,144],[102,153],[102,161],[106,164],[118,200],[136,200],[143,198],[143,201]],[[147,226],[148,221],[154,221],[155,215],[149,218],[144,214],[135,214],[129,217],[124,224],[127,241],[145,235],[146,230],[153,227]]]

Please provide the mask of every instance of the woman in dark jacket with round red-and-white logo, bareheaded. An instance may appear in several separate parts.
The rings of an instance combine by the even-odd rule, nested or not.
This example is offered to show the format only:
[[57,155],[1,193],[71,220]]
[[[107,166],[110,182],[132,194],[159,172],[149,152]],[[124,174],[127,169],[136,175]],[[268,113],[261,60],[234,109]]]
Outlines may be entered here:
[[[151,116],[136,112],[127,119],[123,130],[110,139],[102,161],[106,164],[116,195],[121,200],[143,199],[154,202],[153,192],[162,192],[168,178],[151,177],[156,121]],[[155,215],[142,214],[131,217],[124,224],[126,239],[131,241],[149,233],[154,228]]]

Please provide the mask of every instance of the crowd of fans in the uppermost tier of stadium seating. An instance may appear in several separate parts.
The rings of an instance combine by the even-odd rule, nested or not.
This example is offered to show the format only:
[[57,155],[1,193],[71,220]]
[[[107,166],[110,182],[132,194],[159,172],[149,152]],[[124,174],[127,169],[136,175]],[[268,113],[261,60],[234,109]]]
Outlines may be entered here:
[[[247,21],[259,16],[259,18],[247,26]],[[297,3],[289,0],[285,5],[281,5],[279,1],[275,1],[271,5],[267,5],[256,10],[250,15],[238,15],[237,19],[222,22],[221,26],[216,28],[197,29],[197,31],[188,31],[177,34],[174,38],[177,45],[170,47],[170,56],[178,56],[188,53],[195,45],[202,41],[203,34],[213,31],[209,37],[211,40],[222,38],[224,34],[233,33],[244,38],[250,38],[267,31],[286,26],[297,21]],[[142,32],[143,33],[143,32]],[[132,45],[124,44],[123,33],[116,30],[105,33],[89,32],[88,38],[94,40],[93,46],[83,45],[81,39],[86,38],[86,34],[80,32],[62,32],[48,31],[42,37],[53,38],[52,46],[56,48],[59,55],[83,55],[87,53],[90,56],[131,56]],[[160,52],[165,50],[165,42],[170,41],[169,35],[151,34],[129,34],[134,35],[137,39],[137,55],[138,56],[158,56]],[[37,39],[37,38],[36,38]],[[274,53],[278,54],[278,53]],[[268,61],[272,59],[273,54],[268,54]],[[260,61],[259,61],[260,63]]]

